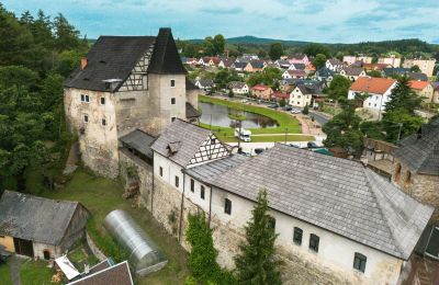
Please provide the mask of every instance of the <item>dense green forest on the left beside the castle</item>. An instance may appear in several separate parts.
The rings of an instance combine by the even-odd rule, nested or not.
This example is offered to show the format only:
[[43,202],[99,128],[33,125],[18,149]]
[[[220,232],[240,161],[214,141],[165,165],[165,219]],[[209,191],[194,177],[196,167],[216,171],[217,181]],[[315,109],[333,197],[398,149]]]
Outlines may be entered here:
[[0,194],[25,191],[32,169],[53,185],[72,140],[63,82],[89,49],[88,41],[63,14],[15,15],[1,3],[0,38]]

